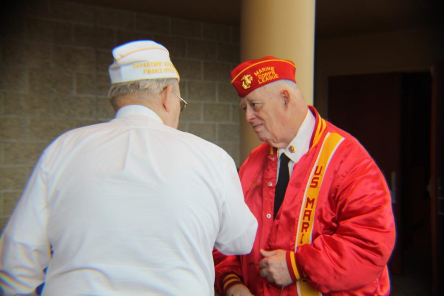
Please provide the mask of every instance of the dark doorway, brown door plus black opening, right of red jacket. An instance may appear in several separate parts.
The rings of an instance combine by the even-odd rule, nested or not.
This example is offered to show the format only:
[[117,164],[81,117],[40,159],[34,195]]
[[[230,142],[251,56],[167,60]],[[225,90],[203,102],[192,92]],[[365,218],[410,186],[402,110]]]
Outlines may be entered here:
[[430,73],[333,76],[328,100],[328,119],[367,148],[392,191],[391,295],[431,295]]

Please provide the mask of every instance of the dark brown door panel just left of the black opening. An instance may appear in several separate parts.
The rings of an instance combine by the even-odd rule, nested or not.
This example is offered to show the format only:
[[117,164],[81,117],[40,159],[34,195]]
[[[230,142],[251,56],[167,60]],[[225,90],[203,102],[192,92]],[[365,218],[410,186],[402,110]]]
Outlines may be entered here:
[[401,96],[402,74],[364,74],[329,78],[328,119],[369,151],[392,193],[397,242],[389,262],[391,273],[401,265]]

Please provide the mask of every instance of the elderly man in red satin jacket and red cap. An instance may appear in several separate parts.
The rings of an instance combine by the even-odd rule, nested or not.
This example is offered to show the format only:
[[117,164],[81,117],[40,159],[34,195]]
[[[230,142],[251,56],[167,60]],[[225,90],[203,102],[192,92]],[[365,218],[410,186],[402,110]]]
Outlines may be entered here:
[[[388,295],[395,224],[384,176],[351,135],[307,106],[292,61],[231,72],[259,140],[240,168],[259,222],[250,254],[215,254],[216,291],[245,295]],[[359,98],[357,98],[359,99]]]

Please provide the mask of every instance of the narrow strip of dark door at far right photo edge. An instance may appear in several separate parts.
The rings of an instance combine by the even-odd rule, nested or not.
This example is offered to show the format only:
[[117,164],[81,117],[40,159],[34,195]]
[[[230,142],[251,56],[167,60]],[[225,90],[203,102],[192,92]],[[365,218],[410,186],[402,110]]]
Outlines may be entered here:
[[432,70],[430,197],[432,225],[432,289],[433,295],[444,295],[444,62]]

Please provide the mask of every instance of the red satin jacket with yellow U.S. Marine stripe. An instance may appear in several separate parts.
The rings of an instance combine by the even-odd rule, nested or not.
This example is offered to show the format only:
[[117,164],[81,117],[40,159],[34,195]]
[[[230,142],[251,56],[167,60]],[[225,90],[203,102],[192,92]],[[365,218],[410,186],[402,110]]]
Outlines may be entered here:
[[[260,145],[240,168],[245,201],[259,227],[250,254],[214,254],[215,289],[221,295],[224,278],[231,273],[255,296],[300,295],[301,282],[318,291],[317,295],[390,293],[386,264],[395,244],[395,223],[384,176],[355,138],[309,108],[316,116],[310,150],[295,164],[275,219],[276,148]],[[331,136],[338,144],[327,154],[321,152]],[[324,163],[320,159],[325,159]],[[309,196],[313,190],[315,205],[315,197]],[[304,226],[307,221],[310,227]],[[292,251],[287,255],[293,256],[294,264],[290,259],[287,263],[295,281],[282,293],[281,287],[259,275],[261,248]]]

